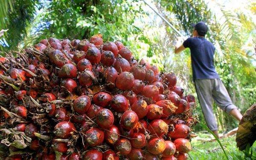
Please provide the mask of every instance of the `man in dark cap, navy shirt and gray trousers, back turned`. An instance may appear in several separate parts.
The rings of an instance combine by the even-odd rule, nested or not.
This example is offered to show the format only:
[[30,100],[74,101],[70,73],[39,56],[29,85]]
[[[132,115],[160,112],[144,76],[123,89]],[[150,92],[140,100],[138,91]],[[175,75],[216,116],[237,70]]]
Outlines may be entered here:
[[208,27],[204,22],[194,26],[193,37],[186,39],[183,44],[175,46],[175,53],[186,48],[190,49],[193,80],[204,118],[210,130],[218,137],[218,126],[212,111],[212,99],[223,110],[241,121],[242,115],[233,105],[227,90],[214,67],[213,55],[215,47],[205,35]]

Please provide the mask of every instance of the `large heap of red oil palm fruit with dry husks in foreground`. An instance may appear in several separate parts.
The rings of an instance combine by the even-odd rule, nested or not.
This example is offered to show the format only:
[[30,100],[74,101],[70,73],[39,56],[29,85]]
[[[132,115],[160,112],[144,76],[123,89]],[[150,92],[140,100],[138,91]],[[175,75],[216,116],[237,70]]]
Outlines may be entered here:
[[6,160],[186,160],[195,97],[102,35],[0,57]]

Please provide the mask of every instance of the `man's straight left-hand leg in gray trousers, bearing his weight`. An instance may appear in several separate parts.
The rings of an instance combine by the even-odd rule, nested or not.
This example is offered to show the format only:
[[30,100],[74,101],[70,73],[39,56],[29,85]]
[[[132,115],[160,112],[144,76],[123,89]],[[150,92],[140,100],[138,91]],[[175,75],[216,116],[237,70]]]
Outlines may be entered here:
[[207,126],[218,137],[218,126],[212,111],[211,79],[196,79],[195,88]]

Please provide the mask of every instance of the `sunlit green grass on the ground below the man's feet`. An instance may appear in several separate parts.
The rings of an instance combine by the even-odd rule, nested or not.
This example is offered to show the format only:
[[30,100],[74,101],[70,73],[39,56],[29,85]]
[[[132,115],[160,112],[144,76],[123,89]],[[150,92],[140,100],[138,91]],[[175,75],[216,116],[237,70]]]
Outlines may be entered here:
[[[200,138],[209,138],[212,135],[198,133]],[[244,153],[239,151],[236,147],[236,137],[231,136],[227,138],[220,139],[224,150],[227,153],[229,160],[255,160],[250,158],[244,158]],[[197,138],[192,139],[193,151],[189,152],[191,160],[227,160],[224,152],[222,151],[220,145],[217,141],[213,142],[202,142],[197,140]],[[256,151],[256,143],[253,145],[254,151]],[[254,155],[256,156],[256,155]]]

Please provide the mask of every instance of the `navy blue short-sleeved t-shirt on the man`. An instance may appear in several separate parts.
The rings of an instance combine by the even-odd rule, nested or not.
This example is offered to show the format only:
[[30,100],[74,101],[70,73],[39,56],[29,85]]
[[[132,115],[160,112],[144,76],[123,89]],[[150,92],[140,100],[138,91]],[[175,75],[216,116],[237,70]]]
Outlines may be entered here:
[[193,79],[218,79],[215,70],[213,55],[215,47],[204,37],[192,37],[183,42],[185,48],[189,47]]

